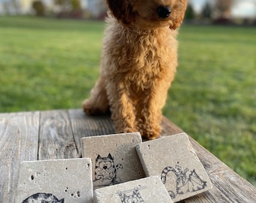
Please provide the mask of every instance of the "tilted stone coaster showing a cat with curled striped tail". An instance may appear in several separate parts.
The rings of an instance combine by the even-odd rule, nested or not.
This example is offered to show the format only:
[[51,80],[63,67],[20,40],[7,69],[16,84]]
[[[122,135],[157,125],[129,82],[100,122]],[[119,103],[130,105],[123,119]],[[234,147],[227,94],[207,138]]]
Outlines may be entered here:
[[145,174],[159,176],[174,202],[212,188],[187,134],[146,141],[136,150]]

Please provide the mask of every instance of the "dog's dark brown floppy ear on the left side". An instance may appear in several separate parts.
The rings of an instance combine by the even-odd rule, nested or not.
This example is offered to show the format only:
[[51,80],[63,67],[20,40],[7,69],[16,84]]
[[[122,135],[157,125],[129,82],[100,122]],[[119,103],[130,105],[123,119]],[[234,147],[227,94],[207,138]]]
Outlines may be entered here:
[[132,5],[127,0],[107,0],[112,15],[121,23],[130,24],[134,21]]

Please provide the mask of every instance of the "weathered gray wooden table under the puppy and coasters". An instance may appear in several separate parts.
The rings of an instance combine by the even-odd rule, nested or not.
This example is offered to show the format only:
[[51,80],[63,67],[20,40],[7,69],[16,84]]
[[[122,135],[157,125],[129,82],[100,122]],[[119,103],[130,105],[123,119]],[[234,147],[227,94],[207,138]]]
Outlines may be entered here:
[[[165,118],[162,126],[162,135],[182,132]],[[111,133],[109,117],[87,117],[81,109],[0,114],[0,203],[15,202],[20,162],[70,159],[78,156],[81,138]],[[254,186],[192,138],[190,141],[213,189],[182,202],[256,202]]]

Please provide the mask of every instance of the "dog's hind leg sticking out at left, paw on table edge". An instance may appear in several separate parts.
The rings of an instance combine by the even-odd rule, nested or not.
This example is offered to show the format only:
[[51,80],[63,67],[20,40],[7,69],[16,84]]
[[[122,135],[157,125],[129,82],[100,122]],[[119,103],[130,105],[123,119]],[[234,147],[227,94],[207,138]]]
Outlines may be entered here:
[[108,111],[108,97],[105,90],[105,77],[100,76],[90,92],[90,98],[83,102],[84,112],[88,115],[105,114]]

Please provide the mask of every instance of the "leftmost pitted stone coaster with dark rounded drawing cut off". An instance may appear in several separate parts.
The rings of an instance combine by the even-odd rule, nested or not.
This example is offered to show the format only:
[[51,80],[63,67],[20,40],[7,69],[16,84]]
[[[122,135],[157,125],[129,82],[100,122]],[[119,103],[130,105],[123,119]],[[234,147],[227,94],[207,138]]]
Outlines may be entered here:
[[17,203],[93,203],[91,160],[22,162]]

